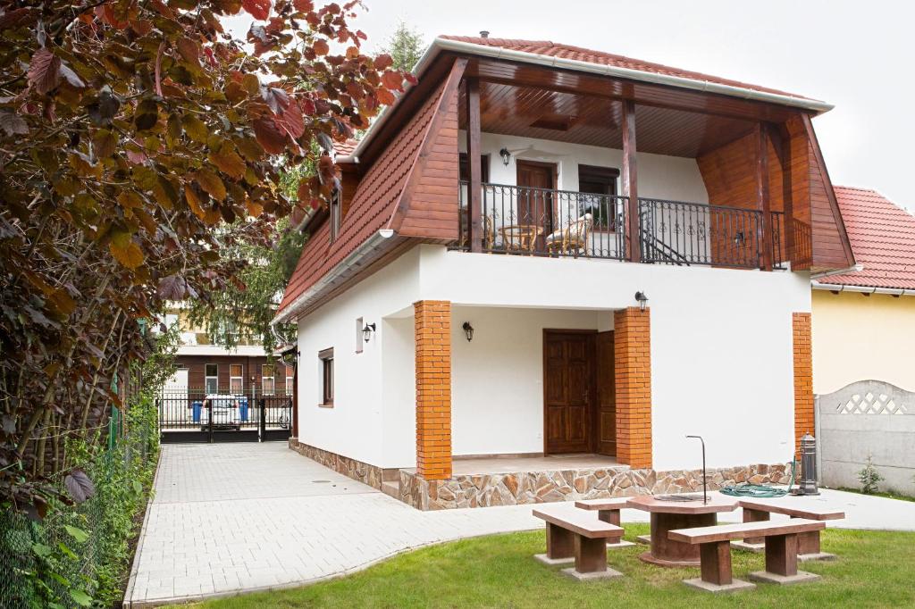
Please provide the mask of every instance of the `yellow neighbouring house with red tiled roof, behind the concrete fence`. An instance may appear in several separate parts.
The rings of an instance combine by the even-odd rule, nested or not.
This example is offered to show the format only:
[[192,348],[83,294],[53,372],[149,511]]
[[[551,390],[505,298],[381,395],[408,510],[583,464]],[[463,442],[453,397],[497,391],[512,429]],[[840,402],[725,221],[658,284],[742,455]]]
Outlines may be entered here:
[[874,190],[835,187],[855,253],[813,283],[813,392],[858,380],[915,391],[915,217]]

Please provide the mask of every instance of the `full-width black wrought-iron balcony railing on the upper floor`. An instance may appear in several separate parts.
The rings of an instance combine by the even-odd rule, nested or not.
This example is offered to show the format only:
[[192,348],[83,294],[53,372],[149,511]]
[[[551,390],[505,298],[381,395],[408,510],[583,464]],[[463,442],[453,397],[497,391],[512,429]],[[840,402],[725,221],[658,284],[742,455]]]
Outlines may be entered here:
[[[761,269],[770,248],[772,268],[787,268],[778,211],[767,222],[759,209],[639,198],[632,222],[626,197],[490,183],[480,190],[479,251]],[[460,236],[451,247],[472,251],[468,182],[459,193]]]

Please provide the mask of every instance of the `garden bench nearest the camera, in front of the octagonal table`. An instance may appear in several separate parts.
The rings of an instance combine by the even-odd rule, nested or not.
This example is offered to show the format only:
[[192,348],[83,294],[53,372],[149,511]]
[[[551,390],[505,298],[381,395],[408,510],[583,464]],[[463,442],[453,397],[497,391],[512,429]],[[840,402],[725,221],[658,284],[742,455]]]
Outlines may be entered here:
[[798,536],[826,527],[822,520],[796,518],[790,522],[745,522],[668,533],[675,541],[699,544],[702,577],[684,580],[687,585],[709,592],[732,592],[752,588],[731,574],[731,540],[749,536],[766,540],[766,571],[752,572],[751,580],[771,583],[811,582],[819,575],[798,571]]

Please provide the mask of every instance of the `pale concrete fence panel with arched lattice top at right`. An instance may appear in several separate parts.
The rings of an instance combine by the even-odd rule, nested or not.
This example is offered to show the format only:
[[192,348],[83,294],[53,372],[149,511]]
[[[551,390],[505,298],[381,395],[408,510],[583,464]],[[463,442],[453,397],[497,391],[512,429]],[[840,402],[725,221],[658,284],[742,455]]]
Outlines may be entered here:
[[857,488],[870,454],[880,490],[915,495],[915,393],[859,380],[816,396],[817,461],[823,486]]

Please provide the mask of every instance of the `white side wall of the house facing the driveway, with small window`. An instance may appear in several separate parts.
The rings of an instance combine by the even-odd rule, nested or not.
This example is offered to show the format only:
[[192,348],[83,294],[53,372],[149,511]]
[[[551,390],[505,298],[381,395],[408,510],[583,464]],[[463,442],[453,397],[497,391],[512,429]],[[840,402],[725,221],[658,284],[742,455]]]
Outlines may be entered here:
[[[397,395],[398,391],[403,394],[403,382],[398,386],[398,380],[404,378],[414,387],[410,369],[412,305],[419,294],[419,253],[408,251],[299,321],[298,438],[301,442],[373,465],[384,463],[382,430],[387,413],[382,412],[382,394]],[[402,353],[403,346],[397,347],[404,340],[403,333],[398,331],[403,328],[396,322],[392,326],[383,321],[404,308],[411,315],[409,358]],[[356,353],[359,317],[367,324],[375,324],[377,330],[369,343],[363,342],[362,352]],[[382,362],[386,340],[394,346],[394,357]],[[334,407],[320,408],[318,351],[328,347],[334,348]],[[391,422],[388,423],[390,426]],[[401,435],[409,435],[410,444],[414,444],[413,427],[405,431],[401,429],[403,425],[395,423],[393,427]]]

